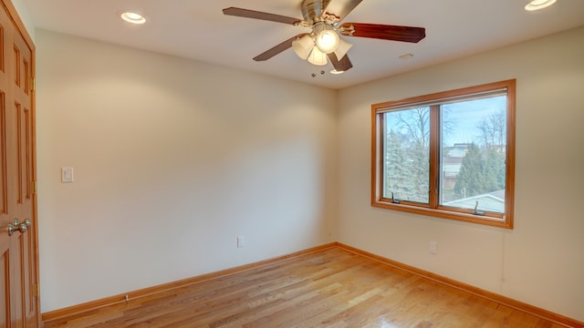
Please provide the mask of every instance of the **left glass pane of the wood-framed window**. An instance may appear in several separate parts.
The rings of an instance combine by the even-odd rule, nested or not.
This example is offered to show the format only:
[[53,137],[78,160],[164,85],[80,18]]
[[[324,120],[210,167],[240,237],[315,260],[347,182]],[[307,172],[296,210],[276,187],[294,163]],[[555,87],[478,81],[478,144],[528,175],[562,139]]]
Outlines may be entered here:
[[382,196],[428,203],[430,108],[386,112],[383,119]]

